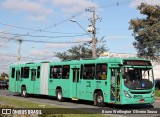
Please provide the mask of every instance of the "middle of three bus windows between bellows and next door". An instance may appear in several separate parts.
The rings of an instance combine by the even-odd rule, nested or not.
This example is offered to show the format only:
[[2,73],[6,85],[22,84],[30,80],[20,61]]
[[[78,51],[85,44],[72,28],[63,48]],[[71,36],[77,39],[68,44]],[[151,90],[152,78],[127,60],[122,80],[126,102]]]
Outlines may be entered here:
[[54,66],[53,67],[53,78],[61,79],[62,77],[62,66]]

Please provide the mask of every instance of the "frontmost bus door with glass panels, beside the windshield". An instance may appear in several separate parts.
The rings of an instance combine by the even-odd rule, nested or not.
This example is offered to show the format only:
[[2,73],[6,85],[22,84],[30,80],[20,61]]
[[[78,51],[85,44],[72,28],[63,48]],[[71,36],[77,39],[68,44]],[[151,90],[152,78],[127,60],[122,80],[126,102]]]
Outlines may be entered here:
[[111,92],[110,99],[111,102],[120,101],[120,68],[111,68]]

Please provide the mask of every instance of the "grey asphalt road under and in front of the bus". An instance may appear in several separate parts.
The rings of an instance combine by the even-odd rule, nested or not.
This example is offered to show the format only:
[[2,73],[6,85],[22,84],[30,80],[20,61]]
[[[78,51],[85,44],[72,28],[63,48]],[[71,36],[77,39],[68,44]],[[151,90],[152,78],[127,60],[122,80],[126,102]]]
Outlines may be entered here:
[[[95,112],[95,110],[99,110],[102,108],[96,107],[93,105],[91,101],[72,101],[67,99],[65,102],[58,102],[55,97],[48,97],[48,96],[35,96],[29,95],[28,98],[23,98],[20,96],[19,93],[11,93],[8,90],[0,90],[0,96],[7,96],[10,98],[15,98],[19,100],[29,100],[32,102],[38,102],[40,105],[51,105],[51,106],[59,106],[65,108],[77,108],[80,110],[88,111],[88,112]],[[134,106],[116,106],[111,104],[106,104],[103,110],[110,110],[110,109],[117,109],[117,110],[137,110],[137,109],[153,109],[159,108],[160,109],[160,101],[156,100],[152,105],[134,105]],[[99,111],[97,111],[99,112]],[[110,116],[118,116],[118,117],[160,117],[158,114],[109,114]]]

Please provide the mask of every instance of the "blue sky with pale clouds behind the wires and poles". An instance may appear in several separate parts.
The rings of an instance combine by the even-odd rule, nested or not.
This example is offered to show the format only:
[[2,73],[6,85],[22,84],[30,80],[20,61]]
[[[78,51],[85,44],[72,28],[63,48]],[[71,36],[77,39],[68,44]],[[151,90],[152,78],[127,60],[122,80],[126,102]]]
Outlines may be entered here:
[[56,52],[91,41],[86,32],[92,18],[88,9],[93,7],[96,38],[104,38],[109,52],[136,54],[129,21],[145,17],[136,9],[141,2],[160,4],[160,0],[1,0],[0,73],[18,63],[19,39],[21,63],[59,61]]

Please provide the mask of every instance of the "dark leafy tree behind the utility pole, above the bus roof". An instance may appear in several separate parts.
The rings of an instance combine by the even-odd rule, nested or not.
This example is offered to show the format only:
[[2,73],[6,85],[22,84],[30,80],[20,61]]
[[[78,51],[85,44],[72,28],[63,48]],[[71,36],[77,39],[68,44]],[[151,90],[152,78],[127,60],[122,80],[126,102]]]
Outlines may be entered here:
[[[102,38],[97,45],[97,56],[99,57],[100,54],[105,51],[108,51],[108,49],[105,48],[105,41]],[[84,58],[92,58],[92,46],[91,43],[75,45],[67,51],[56,53],[56,56],[61,60],[79,60]]]

